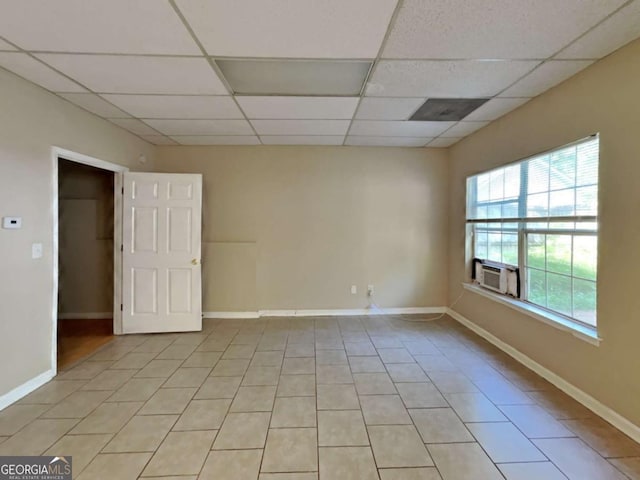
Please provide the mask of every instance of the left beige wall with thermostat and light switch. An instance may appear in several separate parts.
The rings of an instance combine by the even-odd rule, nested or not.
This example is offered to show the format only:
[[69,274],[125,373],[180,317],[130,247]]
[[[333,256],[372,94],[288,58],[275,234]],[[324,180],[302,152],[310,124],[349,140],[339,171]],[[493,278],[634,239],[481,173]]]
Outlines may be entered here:
[[[0,69],[0,396],[51,368],[53,162],[58,146],[137,168],[155,148],[105,120]],[[31,244],[44,256],[31,259]]]

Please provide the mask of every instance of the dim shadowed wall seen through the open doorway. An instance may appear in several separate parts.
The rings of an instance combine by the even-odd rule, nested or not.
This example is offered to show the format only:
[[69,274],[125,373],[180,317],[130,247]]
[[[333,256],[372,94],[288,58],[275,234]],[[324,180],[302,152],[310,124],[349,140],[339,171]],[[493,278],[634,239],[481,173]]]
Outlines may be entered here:
[[61,160],[58,185],[59,318],[112,318],[114,174]]

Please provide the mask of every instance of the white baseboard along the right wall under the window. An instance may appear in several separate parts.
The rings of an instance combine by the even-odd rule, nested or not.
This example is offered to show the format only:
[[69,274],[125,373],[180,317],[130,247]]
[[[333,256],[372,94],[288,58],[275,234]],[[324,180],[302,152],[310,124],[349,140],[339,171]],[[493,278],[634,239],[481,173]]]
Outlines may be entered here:
[[624,432],[625,434],[627,434],[629,437],[634,439],[636,442],[640,442],[640,427],[638,425],[635,425],[631,421],[627,420],[622,415],[620,415],[619,413],[615,412],[611,408],[607,407],[606,405],[604,405],[600,401],[596,400],[595,398],[593,398],[588,393],[586,393],[583,390],[579,389],[575,385],[569,383],[564,378],[562,378],[559,375],[553,373],[548,368],[543,367],[542,365],[540,365],[538,362],[536,362],[532,358],[528,357],[527,355],[525,355],[524,353],[520,352],[519,350],[516,350],[511,345],[503,342],[498,337],[496,337],[495,335],[489,333],[484,328],[476,325],[471,320],[469,320],[468,318],[466,318],[463,315],[459,314],[455,310],[452,310],[452,309],[449,308],[449,309],[447,309],[447,314],[449,316],[451,316],[453,319],[455,319],[456,321],[458,321],[459,323],[461,323],[462,325],[464,325],[465,327],[469,328],[469,330],[474,331],[475,333],[480,335],[482,338],[484,338],[488,342],[492,343],[493,345],[498,347],[500,350],[502,350],[506,354],[508,354],[511,357],[513,357],[515,360],[517,360],[518,362],[523,364],[525,367],[533,370],[538,375],[540,375],[542,378],[545,378],[546,380],[551,382],[553,385],[558,387],[564,393],[566,393],[570,397],[572,397],[575,400],[577,400],[578,402],[580,402],[582,405],[587,407],[589,410],[591,410],[596,415],[598,415],[598,416],[602,417],[603,419],[605,419],[611,425],[613,425],[618,430],[620,430],[620,431]]

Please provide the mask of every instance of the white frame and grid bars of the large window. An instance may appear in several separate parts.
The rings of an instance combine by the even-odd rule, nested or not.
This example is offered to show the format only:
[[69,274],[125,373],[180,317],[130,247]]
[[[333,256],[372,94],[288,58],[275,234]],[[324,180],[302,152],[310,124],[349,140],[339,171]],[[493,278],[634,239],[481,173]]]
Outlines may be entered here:
[[[600,138],[599,138],[599,134],[595,133],[592,135],[589,135],[588,137],[585,138],[581,138],[579,140],[576,140],[574,142],[570,142],[567,143],[565,145],[559,146],[559,147],[555,147],[543,152],[539,152],[536,153],[534,155],[519,159],[517,161],[514,162],[510,162],[507,163],[505,165],[501,165],[499,167],[495,167],[489,170],[484,170],[481,172],[477,172],[474,173],[473,175],[469,175],[467,176],[466,179],[466,215],[465,215],[465,224],[467,226],[467,232],[468,234],[470,234],[470,247],[471,247],[471,258],[468,258],[467,261],[471,262],[473,261],[474,258],[481,258],[481,257],[477,257],[476,252],[475,252],[475,248],[476,248],[476,234],[477,234],[477,230],[478,227],[476,225],[478,224],[484,224],[482,225],[482,227],[484,227],[485,229],[490,228],[491,223],[499,223],[500,227],[502,227],[503,224],[505,223],[512,223],[512,224],[517,224],[517,238],[518,238],[518,245],[517,245],[517,249],[518,249],[518,255],[517,255],[517,264],[513,265],[513,264],[505,264],[505,265],[513,265],[515,267],[518,268],[518,275],[519,275],[519,282],[520,282],[520,295],[518,298],[514,298],[508,295],[503,295],[500,293],[494,293],[491,292],[491,295],[496,295],[496,296],[504,296],[504,297],[508,297],[511,298],[512,302],[523,302],[526,303],[529,306],[532,306],[534,309],[539,309],[543,312],[549,312],[549,317],[553,320],[553,317],[561,317],[566,319],[568,322],[571,323],[575,323],[577,324],[580,329],[592,329],[594,332],[597,331],[597,327],[598,327],[598,321],[597,321],[597,310],[598,310],[598,304],[597,304],[597,285],[598,285],[598,276],[597,276],[597,264],[596,264],[596,276],[594,280],[591,279],[586,279],[583,277],[576,277],[573,271],[573,245],[574,245],[574,238],[578,237],[578,236],[594,236],[596,238],[596,242],[598,240],[598,211],[595,212],[595,215],[566,215],[566,216],[552,216],[549,215],[549,210],[550,210],[550,205],[547,207],[547,216],[544,217],[528,217],[527,216],[527,199],[528,196],[530,195],[528,193],[528,181],[529,181],[529,177],[528,177],[528,168],[529,168],[529,161],[532,159],[535,159],[537,157],[543,157],[545,155],[550,155],[553,154],[555,152],[559,152],[562,151],[563,149],[566,148],[570,148],[572,146],[578,146],[578,145],[582,145],[582,144],[586,144],[589,143],[591,141],[596,140],[598,142],[598,157],[597,157],[597,170],[596,170],[596,183],[595,184],[589,184],[589,185],[576,185],[574,184],[573,187],[571,187],[574,192],[577,190],[577,188],[582,188],[585,186],[596,186],[597,188],[597,197],[596,197],[596,204],[598,205],[598,210],[599,210],[599,202],[597,201],[598,197],[599,197],[599,167],[600,167]],[[506,171],[507,168],[509,168],[510,166],[515,166],[515,165],[519,165],[520,166],[520,189],[519,189],[519,195],[516,198],[516,201],[518,203],[518,217],[494,217],[494,218],[471,218],[472,216],[470,215],[470,207],[472,206],[472,202],[470,201],[471,198],[475,199],[475,202],[473,202],[474,204],[478,204],[478,200],[477,200],[477,194],[478,194],[478,187],[477,187],[477,181],[473,182],[472,180],[477,180],[477,178],[480,175],[483,174],[487,174],[487,173],[491,173],[493,171],[497,171],[497,170],[502,170],[502,171]],[[566,188],[565,188],[566,189]],[[547,190],[545,190],[544,192],[541,193],[551,193],[554,191],[560,191],[563,189],[554,189],[551,187],[551,185],[549,185],[549,187],[547,188]],[[575,193],[574,193],[575,195]],[[496,200],[495,203],[506,203],[506,202],[512,202],[512,197],[502,197],[501,200]],[[481,203],[492,203],[490,198],[486,201],[486,202],[481,202]],[[577,202],[575,200],[574,197],[574,205],[577,205]],[[502,214],[503,212],[501,212]],[[575,213],[575,211],[574,211]],[[552,223],[573,223],[574,224],[574,228],[557,228],[557,229],[553,229],[550,228]],[[546,228],[531,228],[529,225],[532,223],[546,223]],[[596,227],[593,229],[586,229],[586,228],[580,228],[580,223],[583,224],[589,224],[589,223],[593,223],[596,224]],[[481,228],[482,228],[481,227]],[[500,228],[500,231],[502,231],[502,228]],[[537,271],[541,271],[541,272],[545,272],[545,274],[547,273],[557,273],[554,271],[550,271],[547,268],[547,253],[545,251],[545,267],[544,270],[540,269],[538,267],[530,267],[528,265],[528,253],[529,253],[529,238],[531,235],[535,235],[535,234],[539,234],[539,235],[544,235],[545,241],[547,239],[548,235],[566,235],[569,236],[571,238],[571,245],[572,245],[572,250],[571,250],[571,257],[572,257],[572,261],[571,261],[571,273],[570,274],[561,274],[565,277],[569,277],[571,279],[571,315],[567,315],[566,313],[554,310],[553,308],[549,308],[548,302],[545,302],[546,305],[540,305],[538,303],[532,302],[529,298],[528,298],[528,272],[529,269],[533,269],[533,270],[537,270]],[[502,241],[502,240],[501,240]],[[502,246],[502,245],[501,245]],[[489,246],[487,246],[487,256],[489,256],[489,250],[488,250]],[[597,254],[597,252],[596,252]],[[503,256],[501,254],[501,258],[503,259]],[[496,262],[494,260],[491,259],[484,259],[490,263],[497,263],[500,264],[502,262]],[[545,276],[546,279],[546,276]],[[574,315],[574,280],[575,279],[579,279],[579,280],[587,280],[590,282],[593,282],[595,284],[595,288],[596,288],[596,305],[595,305],[595,320],[594,320],[594,324],[589,323],[588,321],[585,321],[583,319],[580,318],[575,318]],[[545,280],[546,281],[546,280]],[[480,287],[479,287],[480,288]],[[527,307],[528,308],[528,307]]]

